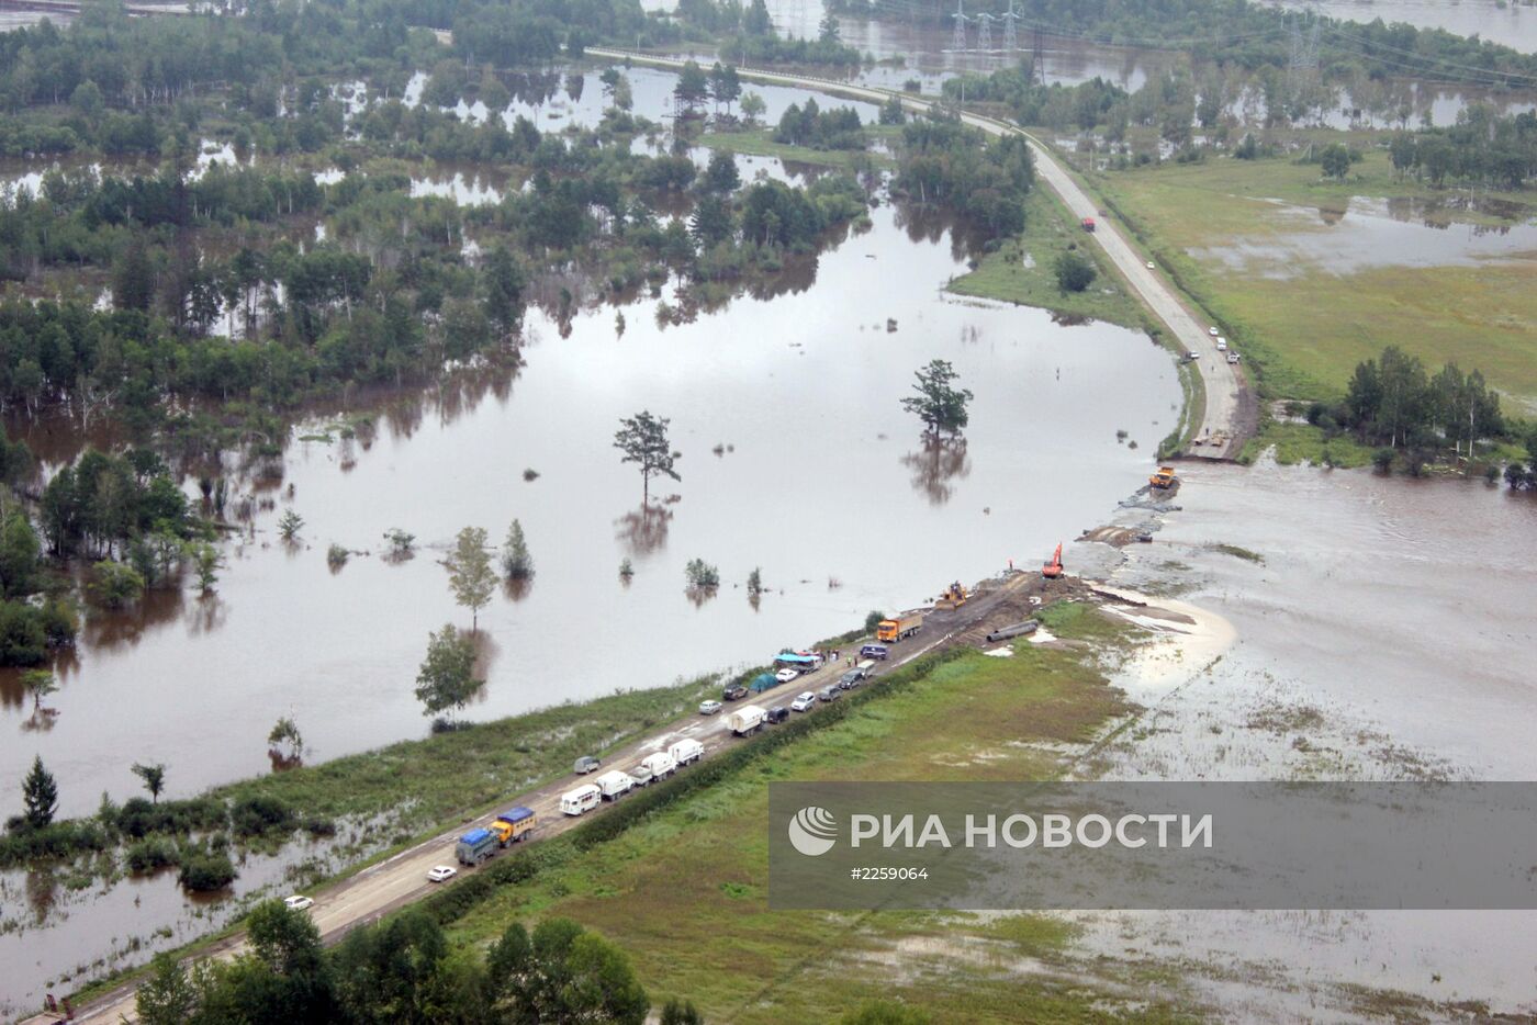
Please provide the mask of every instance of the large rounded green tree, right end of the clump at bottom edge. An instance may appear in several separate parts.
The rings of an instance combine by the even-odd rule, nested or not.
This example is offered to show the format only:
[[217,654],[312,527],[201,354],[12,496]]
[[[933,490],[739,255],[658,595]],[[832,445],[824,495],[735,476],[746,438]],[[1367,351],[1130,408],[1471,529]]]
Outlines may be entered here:
[[641,1025],[650,1000],[618,947],[570,919],[533,936],[513,922],[486,957],[496,1010],[515,1022]]

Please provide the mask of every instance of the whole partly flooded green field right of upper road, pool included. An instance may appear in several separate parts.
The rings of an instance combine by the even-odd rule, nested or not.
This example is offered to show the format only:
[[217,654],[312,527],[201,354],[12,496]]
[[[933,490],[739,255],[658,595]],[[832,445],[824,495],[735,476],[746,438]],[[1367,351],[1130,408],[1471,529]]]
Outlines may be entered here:
[[1345,181],[1290,157],[1094,177],[1159,261],[1283,398],[1343,393],[1396,344],[1480,369],[1537,407],[1537,226],[1525,194],[1399,181],[1366,151]]

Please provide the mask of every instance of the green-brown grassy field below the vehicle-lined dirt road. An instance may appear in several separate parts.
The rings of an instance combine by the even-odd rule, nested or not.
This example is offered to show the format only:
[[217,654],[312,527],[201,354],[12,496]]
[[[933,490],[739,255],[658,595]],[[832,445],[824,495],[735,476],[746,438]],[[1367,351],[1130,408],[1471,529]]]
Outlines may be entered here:
[[[1054,616],[1068,635],[1124,639],[1087,607]],[[653,997],[687,996],[709,1020],[832,1020],[876,997],[936,1020],[1180,1017],[1168,991],[1148,1002],[1145,990],[1133,999],[1120,988],[1130,979],[1053,971],[1073,931],[1051,916],[768,910],[768,782],[1053,778],[1062,744],[1125,710],[1091,655],[1030,644],[1011,659],[961,655],[871,698],[615,839],[500,888],[453,925],[455,939],[480,944],[513,919],[572,916],[624,947]]]

